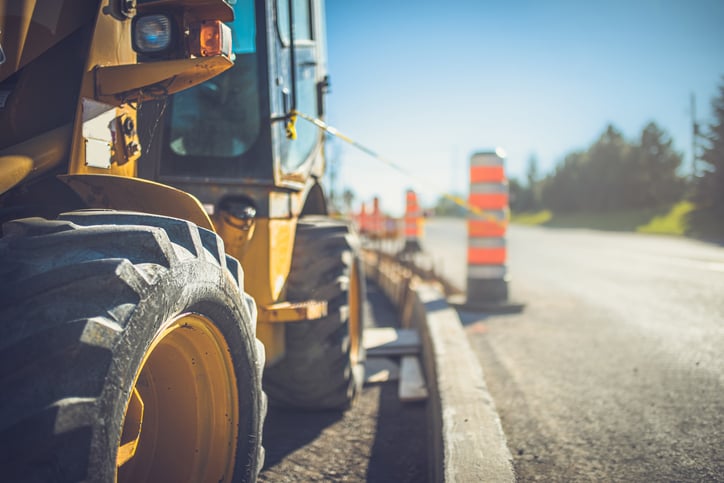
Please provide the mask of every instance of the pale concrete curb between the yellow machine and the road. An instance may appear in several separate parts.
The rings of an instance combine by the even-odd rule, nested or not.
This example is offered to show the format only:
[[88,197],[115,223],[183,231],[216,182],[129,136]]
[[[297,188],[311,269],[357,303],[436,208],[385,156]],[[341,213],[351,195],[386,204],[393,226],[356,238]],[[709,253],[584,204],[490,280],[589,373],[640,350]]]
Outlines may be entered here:
[[445,482],[515,481],[495,403],[460,318],[435,283],[379,254],[367,274],[397,305],[402,325],[416,327],[430,399],[430,478]]

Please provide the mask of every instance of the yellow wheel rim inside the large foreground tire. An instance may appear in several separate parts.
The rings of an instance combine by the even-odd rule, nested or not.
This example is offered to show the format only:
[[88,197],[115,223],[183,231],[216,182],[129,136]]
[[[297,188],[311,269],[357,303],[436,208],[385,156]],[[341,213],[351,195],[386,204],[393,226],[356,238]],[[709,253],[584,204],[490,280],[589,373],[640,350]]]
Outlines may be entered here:
[[229,346],[207,318],[164,324],[126,403],[118,481],[231,481],[239,399]]

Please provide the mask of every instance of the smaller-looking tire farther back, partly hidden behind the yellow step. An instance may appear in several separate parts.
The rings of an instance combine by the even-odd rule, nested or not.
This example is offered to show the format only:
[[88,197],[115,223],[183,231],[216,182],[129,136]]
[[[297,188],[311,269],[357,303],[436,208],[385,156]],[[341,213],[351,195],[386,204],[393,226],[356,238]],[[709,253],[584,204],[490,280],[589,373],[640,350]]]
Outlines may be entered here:
[[303,409],[349,407],[364,382],[365,279],[359,240],[346,223],[299,220],[287,300],[327,301],[327,316],[285,326],[284,356],[264,371],[270,404]]

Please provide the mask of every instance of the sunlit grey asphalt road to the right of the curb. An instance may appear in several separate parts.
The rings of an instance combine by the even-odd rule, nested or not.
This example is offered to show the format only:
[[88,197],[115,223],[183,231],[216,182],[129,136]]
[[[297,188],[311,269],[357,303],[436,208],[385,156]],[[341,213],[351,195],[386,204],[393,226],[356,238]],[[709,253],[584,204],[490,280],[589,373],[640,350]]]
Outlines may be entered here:
[[[423,247],[464,287],[466,229]],[[512,226],[521,314],[461,313],[519,481],[724,481],[724,248]]]

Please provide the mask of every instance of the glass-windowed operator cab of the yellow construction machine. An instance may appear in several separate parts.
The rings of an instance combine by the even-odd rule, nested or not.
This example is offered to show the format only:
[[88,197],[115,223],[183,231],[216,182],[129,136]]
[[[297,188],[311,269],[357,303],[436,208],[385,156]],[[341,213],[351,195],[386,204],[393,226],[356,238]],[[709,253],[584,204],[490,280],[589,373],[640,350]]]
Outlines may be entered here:
[[295,110],[323,114],[321,3],[232,3],[234,66],[142,105],[139,172],[196,195],[209,211],[243,197],[265,216],[269,190],[304,191],[323,171],[322,133],[306,121],[291,125]]

